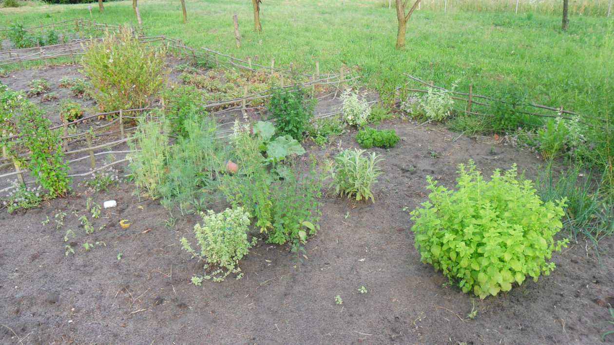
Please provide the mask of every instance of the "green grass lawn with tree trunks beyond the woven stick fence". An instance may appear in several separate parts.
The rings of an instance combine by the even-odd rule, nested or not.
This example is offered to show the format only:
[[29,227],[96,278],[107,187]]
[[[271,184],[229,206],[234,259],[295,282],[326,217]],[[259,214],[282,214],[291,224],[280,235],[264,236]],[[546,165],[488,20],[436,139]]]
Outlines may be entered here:
[[[128,23],[136,16],[131,2],[97,4],[99,23]],[[1,24],[23,21],[34,26],[70,18],[88,18],[88,5],[38,5],[0,9]],[[613,18],[575,16],[561,31],[561,18],[513,12],[447,13],[420,10],[408,23],[407,45],[395,49],[395,9],[387,1],[267,0],[261,6],[262,34],[253,31],[251,2],[187,1],[182,23],[179,1],[139,1],[147,34],[179,38],[194,47],[208,47],[257,63],[321,73],[353,67],[368,86],[401,83],[402,72],[437,85],[496,96],[506,90],[526,92],[539,104],[595,113],[612,93],[614,76]],[[232,15],[237,13],[243,47],[236,48]],[[417,86],[417,85],[414,85]],[[611,97],[609,97],[611,98]],[[611,106],[611,105],[610,105]]]

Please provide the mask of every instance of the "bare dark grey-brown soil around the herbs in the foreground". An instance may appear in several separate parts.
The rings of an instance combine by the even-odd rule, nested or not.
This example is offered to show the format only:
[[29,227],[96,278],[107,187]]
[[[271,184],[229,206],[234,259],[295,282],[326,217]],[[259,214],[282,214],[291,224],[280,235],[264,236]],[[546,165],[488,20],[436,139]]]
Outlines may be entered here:
[[[243,279],[189,284],[204,272],[179,238],[193,238],[200,219],[179,217],[166,229],[168,212],[158,202],[139,202],[129,183],[106,194],[77,189],[18,214],[3,211],[2,325],[30,344],[601,343],[610,328],[594,324],[607,320],[614,297],[612,237],[600,242],[607,253],[603,264],[584,241],[570,245],[553,256],[557,268],[550,276],[476,299],[474,320],[467,317],[472,296],[445,287],[447,279],[421,263],[413,248],[413,222],[404,209],[427,200],[426,175],[454,186],[457,164],[474,159],[486,176],[517,162],[533,177],[541,164],[535,154],[477,143],[438,126],[393,121],[381,127],[405,140],[390,151],[375,149],[386,158],[375,205],[324,197],[322,229],[306,245],[308,259],[300,268],[287,246],[261,241],[241,262]],[[340,148],[357,146],[355,134],[308,153],[324,165]],[[96,232],[89,236],[71,214],[84,213],[87,197],[118,203],[93,222]],[[61,229],[54,224],[58,210],[68,214]],[[47,217],[51,222],[42,225]],[[122,219],[134,223],[122,229]],[[75,254],[66,256],[68,229],[76,233],[68,241]],[[85,241],[106,246],[85,251]],[[358,291],[361,286],[367,294]],[[335,304],[336,295],[342,305]],[[6,327],[0,343],[17,344]]]

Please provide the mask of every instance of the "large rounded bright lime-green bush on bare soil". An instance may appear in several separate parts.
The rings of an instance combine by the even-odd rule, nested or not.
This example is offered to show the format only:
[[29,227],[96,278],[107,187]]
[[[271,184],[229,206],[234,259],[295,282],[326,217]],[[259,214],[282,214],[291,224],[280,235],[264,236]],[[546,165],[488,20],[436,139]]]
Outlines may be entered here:
[[422,262],[482,299],[522,284],[527,274],[535,281],[549,275],[554,263],[546,259],[569,242],[553,240],[566,199],[543,203],[531,181],[516,175],[513,165],[486,182],[473,161],[468,170],[460,164],[456,191],[428,176],[430,202],[411,211]]

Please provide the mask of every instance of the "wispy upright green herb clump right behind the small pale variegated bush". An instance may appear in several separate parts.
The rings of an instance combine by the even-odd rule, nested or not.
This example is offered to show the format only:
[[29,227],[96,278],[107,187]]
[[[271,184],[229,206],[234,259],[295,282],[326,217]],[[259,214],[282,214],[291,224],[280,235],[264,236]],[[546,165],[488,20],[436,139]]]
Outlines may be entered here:
[[[255,127],[256,135],[251,135],[249,128],[235,126],[231,142],[239,173],[220,176],[220,190],[233,207],[243,206],[254,215],[255,226],[268,235],[268,242],[281,245],[299,238],[304,222],[316,224],[311,235],[319,229],[317,198],[321,197],[322,180],[315,159],[306,171],[296,169],[289,160],[271,164],[263,160],[260,133],[266,127]],[[268,129],[265,135],[273,134]]]

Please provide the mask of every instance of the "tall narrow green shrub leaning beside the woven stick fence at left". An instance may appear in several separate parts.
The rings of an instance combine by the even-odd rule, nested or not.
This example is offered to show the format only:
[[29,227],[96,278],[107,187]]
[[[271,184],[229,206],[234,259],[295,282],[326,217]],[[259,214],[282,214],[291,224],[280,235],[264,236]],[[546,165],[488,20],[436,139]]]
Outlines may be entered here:
[[[60,139],[49,129],[51,121],[43,110],[30,102],[23,104],[20,110],[19,137],[31,152],[28,167],[32,175],[43,188],[49,189],[51,197],[66,195],[71,189],[70,167],[63,159]],[[26,162],[21,161],[21,165],[26,165]]]

